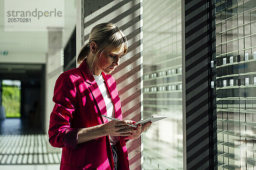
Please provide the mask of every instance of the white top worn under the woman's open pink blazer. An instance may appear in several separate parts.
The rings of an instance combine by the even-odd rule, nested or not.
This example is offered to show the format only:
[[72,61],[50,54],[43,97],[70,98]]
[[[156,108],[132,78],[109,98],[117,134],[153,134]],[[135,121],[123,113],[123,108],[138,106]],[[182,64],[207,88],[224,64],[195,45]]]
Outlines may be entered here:
[[[106,108],[107,108],[107,116],[115,118],[115,111],[113,108],[113,102],[111,99],[111,96],[109,94],[109,91],[107,90],[108,87],[105,83],[105,80],[103,79],[102,75],[99,76],[93,75],[97,85],[99,86],[99,91],[101,92]],[[109,138],[111,144],[116,144],[116,142],[119,140],[118,136],[110,136]]]

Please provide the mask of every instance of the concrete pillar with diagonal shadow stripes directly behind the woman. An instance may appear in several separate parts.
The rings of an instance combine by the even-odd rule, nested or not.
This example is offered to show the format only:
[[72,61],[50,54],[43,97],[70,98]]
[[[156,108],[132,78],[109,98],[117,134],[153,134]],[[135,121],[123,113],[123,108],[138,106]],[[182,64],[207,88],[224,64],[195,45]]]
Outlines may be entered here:
[[[112,74],[116,79],[124,119],[139,121],[143,111],[142,0],[77,0],[77,50],[88,42],[91,28],[111,22],[128,39],[128,54]],[[131,170],[143,169],[142,139],[127,142]]]

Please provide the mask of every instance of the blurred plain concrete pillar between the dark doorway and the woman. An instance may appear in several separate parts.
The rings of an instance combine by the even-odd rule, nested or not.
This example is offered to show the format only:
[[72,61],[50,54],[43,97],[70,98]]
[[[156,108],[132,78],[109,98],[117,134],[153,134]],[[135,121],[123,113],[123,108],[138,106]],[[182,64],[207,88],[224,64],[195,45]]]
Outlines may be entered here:
[[61,42],[62,28],[48,28],[48,54],[45,74],[45,133],[48,132],[49,116],[54,106],[52,96],[55,81],[63,72],[64,56]]

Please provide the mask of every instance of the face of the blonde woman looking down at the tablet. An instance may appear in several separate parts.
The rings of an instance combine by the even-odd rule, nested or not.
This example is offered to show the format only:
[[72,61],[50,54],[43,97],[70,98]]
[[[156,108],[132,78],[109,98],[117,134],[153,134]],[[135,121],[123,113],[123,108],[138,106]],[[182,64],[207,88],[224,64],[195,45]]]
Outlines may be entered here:
[[120,64],[120,58],[122,53],[116,52],[106,52],[103,51],[102,54],[99,54],[99,62],[96,64],[95,75],[101,74],[103,71],[105,74],[111,74],[116,67]]

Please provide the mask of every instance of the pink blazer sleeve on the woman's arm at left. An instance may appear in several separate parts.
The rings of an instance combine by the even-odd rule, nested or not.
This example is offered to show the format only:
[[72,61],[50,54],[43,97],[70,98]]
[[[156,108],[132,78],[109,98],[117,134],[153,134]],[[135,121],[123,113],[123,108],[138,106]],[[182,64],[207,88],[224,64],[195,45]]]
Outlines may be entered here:
[[71,128],[76,111],[76,85],[67,73],[62,73],[55,82],[52,101],[55,103],[49,121],[49,143],[53,147],[76,148],[79,128]]

